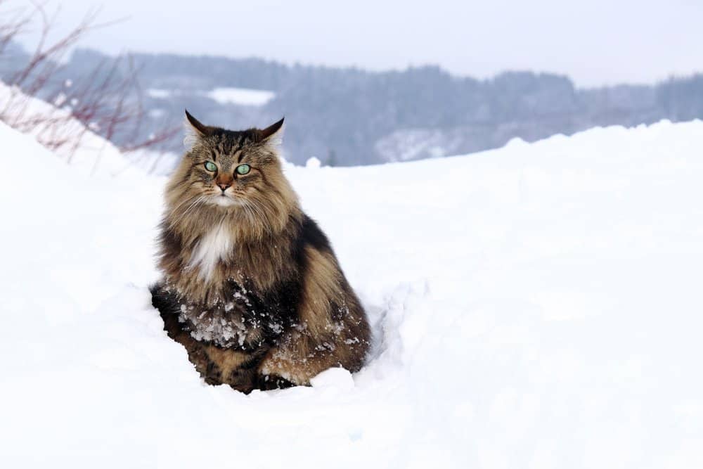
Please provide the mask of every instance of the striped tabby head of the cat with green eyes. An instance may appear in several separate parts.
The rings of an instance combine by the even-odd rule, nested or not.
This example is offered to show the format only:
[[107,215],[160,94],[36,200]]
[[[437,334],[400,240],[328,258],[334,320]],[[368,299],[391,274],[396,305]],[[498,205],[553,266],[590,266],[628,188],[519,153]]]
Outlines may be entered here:
[[174,215],[205,210],[287,217],[297,199],[283,175],[278,145],[283,119],[265,129],[231,131],[199,122],[186,110],[188,150],[167,186]]

